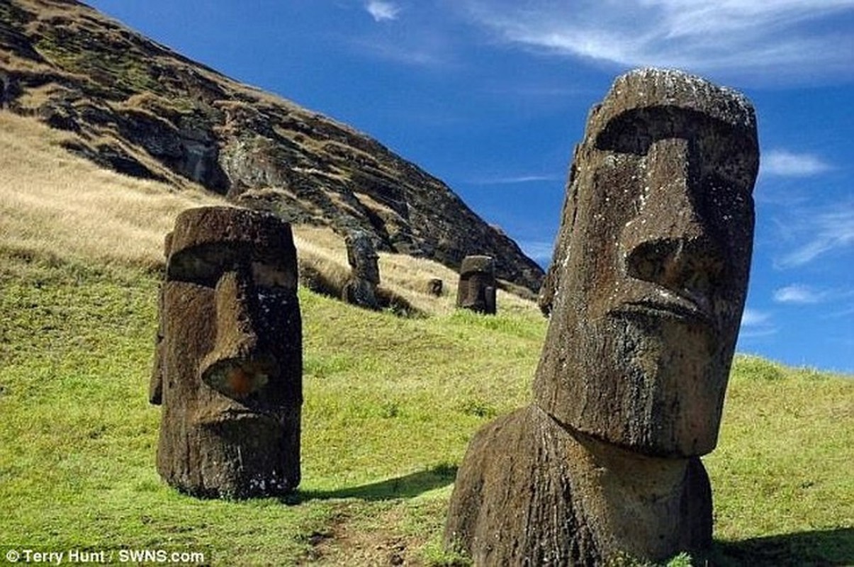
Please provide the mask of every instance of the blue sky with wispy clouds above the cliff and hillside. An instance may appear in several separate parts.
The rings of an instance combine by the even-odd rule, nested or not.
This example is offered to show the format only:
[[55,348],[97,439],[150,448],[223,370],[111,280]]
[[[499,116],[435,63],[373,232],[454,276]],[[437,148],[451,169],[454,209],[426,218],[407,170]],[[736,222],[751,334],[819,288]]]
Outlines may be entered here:
[[588,110],[632,67],[757,108],[740,352],[854,373],[854,0],[91,0],[377,138],[547,264]]

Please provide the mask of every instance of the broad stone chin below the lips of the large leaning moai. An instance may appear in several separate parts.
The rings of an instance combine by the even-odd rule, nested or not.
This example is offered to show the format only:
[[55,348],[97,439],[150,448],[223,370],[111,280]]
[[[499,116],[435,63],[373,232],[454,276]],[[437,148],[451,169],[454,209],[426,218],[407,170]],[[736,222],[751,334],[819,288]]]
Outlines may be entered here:
[[[717,331],[705,319],[649,311],[614,313],[608,326],[588,330],[585,350],[598,356],[581,362],[585,383],[567,383],[570,428],[653,457],[711,452],[728,374]],[[603,398],[607,412],[583,411]]]

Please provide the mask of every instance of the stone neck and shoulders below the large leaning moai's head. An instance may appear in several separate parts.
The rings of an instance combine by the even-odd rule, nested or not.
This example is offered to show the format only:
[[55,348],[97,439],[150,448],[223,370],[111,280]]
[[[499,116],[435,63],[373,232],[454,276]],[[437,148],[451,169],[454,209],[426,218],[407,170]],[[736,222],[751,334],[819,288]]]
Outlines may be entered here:
[[528,406],[472,439],[445,540],[476,565],[601,565],[615,552],[696,552],[711,544],[709,478],[699,458],[631,453],[573,435]]

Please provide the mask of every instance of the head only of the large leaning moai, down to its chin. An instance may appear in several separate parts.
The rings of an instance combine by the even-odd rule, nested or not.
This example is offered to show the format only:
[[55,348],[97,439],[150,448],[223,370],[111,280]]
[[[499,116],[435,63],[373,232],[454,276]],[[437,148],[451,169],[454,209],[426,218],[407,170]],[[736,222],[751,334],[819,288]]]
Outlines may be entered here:
[[570,172],[537,405],[640,453],[715,447],[757,168],[744,96],[675,71],[615,81]]

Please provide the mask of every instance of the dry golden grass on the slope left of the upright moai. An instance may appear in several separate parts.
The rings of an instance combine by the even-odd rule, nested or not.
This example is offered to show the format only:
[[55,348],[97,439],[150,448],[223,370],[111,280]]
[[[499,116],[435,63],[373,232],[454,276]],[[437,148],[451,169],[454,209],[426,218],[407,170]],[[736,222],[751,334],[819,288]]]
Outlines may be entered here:
[[221,203],[202,190],[129,178],[70,155],[66,135],[0,112],[0,245],[27,254],[146,267],[185,208]]

